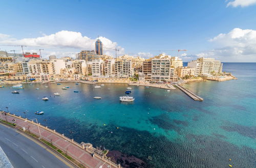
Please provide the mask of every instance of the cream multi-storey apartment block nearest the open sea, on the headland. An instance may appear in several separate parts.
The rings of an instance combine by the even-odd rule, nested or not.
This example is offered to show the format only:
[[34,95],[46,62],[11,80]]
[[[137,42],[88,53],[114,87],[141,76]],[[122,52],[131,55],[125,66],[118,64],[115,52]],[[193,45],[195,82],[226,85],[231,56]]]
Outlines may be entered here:
[[222,73],[223,64],[211,58],[198,58],[187,66],[196,69],[195,76],[209,76],[211,73]]

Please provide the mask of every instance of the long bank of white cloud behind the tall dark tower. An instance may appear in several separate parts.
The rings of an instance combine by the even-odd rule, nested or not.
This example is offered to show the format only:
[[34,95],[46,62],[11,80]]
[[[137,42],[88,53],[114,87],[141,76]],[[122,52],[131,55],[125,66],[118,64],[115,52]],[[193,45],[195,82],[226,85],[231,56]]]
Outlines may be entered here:
[[[9,35],[0,34],[0,44],[4,45],[26,45],[28,47],[42,47],[51,48],[55,52],[61,50],[79,52],[81,49],[94,50],[95,40],[87,36],[82,36],[80,32],[72,31],[60,31],[55,34],[45,35],[41,33],[41,37],[37,38],[24,38],[24,39],[13,39]],[[124,53],[124,48],[118,46],[116,42],[111,41],[105,37],[99,37],[103,44],[103,52],[113,55],[114,49],[119,49],[119,53]],[[45,49],[46,50],[46,49]],[[69,52],[70,52],[69,51]]]

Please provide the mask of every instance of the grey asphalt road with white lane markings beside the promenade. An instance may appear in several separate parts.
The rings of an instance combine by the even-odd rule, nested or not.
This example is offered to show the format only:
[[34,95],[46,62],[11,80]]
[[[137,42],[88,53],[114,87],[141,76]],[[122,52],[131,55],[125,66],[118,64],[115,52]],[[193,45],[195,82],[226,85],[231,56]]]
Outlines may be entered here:
[[69,163],[62,162],[65,160],[61,161],[59,156],[49,152],[46,147],[2,124],[0,124],[0,146],[14,168],[72,167]]

